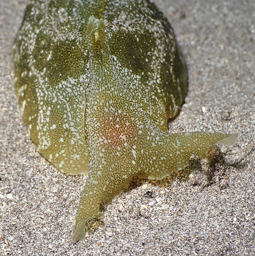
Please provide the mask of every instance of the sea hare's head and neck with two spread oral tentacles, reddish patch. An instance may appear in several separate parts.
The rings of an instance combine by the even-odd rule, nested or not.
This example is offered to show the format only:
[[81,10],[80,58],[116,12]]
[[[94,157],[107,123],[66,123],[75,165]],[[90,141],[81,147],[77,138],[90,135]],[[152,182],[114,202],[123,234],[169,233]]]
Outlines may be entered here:
[[117,72],[104,22],[92,16],[87,34],[91,79],[84,123],[90,169],[73,242],[84,238],[90,222],[102,216],[100,205],[118,194],[134,175],[162,179],[184,169],[192,154],[204,158],[210,146],[231,136],[162,131],[142,110],[129,83]]

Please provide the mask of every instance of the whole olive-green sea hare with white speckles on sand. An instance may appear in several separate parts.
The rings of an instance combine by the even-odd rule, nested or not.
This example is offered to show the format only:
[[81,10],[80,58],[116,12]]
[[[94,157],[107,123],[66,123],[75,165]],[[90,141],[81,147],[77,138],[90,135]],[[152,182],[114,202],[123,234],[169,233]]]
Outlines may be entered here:
[[89,174],[72,241],[134,175],[162,179],[238,134],[168,133],[187,92],[171,25],[148,0],[32,0],[14,47],[20,112],[61,172]]

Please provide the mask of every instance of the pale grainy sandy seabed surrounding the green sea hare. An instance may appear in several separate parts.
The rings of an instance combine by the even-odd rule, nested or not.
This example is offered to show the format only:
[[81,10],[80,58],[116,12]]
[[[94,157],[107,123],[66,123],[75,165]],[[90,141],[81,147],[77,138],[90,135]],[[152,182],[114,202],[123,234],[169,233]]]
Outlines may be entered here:
[[0,3],[0,255],[254,255],[255,2],[155,1],[189,68],[171,132],[241,132],[208,184],[194,172],[145,182],[105,207],[104,225],[72,244],[86,177],[61,174],[32,143],[14,92],[12,45],[25,0]]

